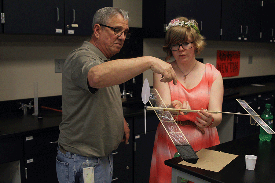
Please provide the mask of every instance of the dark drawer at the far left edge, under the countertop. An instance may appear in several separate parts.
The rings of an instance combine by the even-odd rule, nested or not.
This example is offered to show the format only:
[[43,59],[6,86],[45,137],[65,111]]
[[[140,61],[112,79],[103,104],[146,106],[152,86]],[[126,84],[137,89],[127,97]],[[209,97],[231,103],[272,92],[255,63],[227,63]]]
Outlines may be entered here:
[[23,158],[22,137],[0,139],[0,164],[20,160]]

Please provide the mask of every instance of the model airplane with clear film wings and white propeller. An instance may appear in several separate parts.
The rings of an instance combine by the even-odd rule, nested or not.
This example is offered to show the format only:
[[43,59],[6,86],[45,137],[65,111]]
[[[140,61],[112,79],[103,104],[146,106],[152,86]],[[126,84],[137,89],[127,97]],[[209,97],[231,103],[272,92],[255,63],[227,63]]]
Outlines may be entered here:
[[[196,155],[194,149],[185,138],[184,134],[182,133],[181,129],[178,127],[178,123],[176,123],[175,119],[172,117],[170,112],[185,112],[185,113],[196,113],[200,110],[189,110],[189,109],[172,109],[167,108],[164,104],[162,98],[160,97],[158,91],[156,89],[150,89],[148,80],[145,79],[141,91],[141,98],[144,106],[144,113],[145,113],[145,133],[146,133],[146,111],[147,110],[154,110],[157,117],[159,118],[161,124],[165,128],[167,134],[171,138],[172,142],[174,143],[176,149],[178,150],[181,158],[186,162],[196,164],[197,160],[199,159]],[[257,113],[244,101],[236,99],[240,105],[248,112],[248,114],[242,113],[229,113],[229,112],[222,112],[222,111],[207,111],[209,113],[226,113],[226,114],[237,114],[237,115],[248,115],[252,117],[255,121],[250,122],[251,125],[255,125],[257,122],[267,133],[275,134],[275,132],[259,117]],[[152,107],[146,106],[146,103],[149,101]]]

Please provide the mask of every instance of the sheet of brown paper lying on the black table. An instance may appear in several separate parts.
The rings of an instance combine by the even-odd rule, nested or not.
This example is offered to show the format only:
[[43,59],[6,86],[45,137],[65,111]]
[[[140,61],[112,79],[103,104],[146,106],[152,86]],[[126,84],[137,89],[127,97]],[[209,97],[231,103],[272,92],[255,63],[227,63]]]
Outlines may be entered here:
[[218,172],[238,156],[209,149],[201,149],[196,154],[199,157],[197,164],[188,163],[184,160],[178,164]]

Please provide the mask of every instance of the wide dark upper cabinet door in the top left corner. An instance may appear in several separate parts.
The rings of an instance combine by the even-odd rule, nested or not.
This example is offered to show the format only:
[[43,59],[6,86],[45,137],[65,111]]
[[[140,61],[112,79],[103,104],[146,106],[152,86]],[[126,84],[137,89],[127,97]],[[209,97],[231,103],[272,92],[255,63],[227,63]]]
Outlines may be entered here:
[[3,0],[1,14],[4,33],[62,34],[64,32],[63,0]]

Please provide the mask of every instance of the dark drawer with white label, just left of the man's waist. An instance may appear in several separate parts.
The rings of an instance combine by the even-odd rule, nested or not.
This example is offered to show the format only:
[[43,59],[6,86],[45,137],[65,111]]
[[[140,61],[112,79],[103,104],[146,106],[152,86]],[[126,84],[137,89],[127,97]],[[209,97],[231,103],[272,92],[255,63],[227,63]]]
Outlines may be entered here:
[[25,157],[57,151],[59,130],[24,136]]

